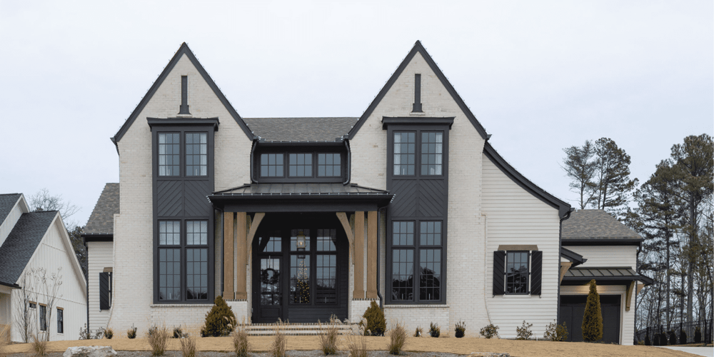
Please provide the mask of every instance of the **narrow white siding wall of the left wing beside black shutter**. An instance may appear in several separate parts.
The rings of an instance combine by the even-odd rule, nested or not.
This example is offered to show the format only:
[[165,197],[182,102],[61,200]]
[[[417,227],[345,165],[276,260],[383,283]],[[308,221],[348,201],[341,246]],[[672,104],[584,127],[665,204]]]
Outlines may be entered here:
[[106,328],[109,322],[109,310],[99,310],[99,273],[104,268],[114,266],[112,257],[114,243],[112,242],[88,242],[89,255],[89,328]]

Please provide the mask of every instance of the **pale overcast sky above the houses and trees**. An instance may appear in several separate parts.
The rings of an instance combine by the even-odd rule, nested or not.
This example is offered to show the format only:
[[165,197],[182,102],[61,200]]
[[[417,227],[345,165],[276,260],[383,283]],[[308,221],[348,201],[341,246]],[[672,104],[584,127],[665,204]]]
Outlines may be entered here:
[[47,188],[84,225],[119,182],[109,137],[183,41],[248,118],[361,116],[416,40],[494,148],[573,206],[563,148],[611,138],[641,183],[714,131],[710,0],[0,0],[0,193]]

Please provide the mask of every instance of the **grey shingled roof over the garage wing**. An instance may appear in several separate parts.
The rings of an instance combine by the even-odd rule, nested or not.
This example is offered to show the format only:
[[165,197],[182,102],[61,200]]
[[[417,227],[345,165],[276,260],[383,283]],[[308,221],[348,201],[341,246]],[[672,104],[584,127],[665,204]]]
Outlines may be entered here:
[[601,209],[581,209],[563,221],[563,239],[641,239],[638,233]]

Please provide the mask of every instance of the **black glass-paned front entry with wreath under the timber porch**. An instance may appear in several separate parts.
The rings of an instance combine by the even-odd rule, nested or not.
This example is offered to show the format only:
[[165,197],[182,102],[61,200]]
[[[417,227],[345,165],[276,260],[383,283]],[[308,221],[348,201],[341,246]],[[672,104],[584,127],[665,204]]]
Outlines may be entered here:
[[336,216],[271,218],[253,242],[253,323],[346,318],[348,244]]

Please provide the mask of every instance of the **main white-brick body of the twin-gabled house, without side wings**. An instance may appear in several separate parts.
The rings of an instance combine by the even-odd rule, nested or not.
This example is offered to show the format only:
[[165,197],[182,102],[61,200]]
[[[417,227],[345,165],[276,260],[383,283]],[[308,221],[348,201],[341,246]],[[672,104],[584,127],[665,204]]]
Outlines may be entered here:
[[573,210],[490,137],[418,41],[340,118],[243,118],[182,44],[112,138],[109,326],[201,326],[223,296],[252,323],[357,321],[376,301],[408,329],[542,336],[585,262],[561,246]]

